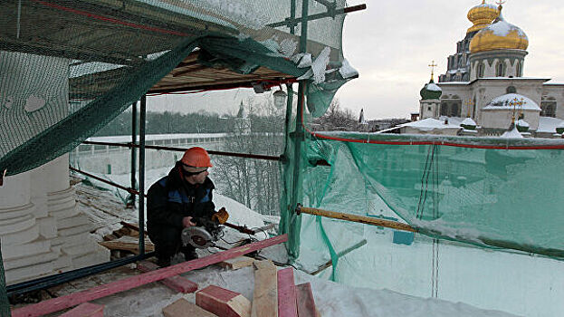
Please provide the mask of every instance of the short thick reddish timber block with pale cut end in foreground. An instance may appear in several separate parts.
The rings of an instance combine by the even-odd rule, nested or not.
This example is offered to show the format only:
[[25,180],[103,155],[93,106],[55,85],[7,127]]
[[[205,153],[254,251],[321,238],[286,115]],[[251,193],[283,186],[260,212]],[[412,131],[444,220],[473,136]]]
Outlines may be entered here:
[[209,285],[196,293],[196,305],[221,317],[250,317],[251,302],[242,294]]

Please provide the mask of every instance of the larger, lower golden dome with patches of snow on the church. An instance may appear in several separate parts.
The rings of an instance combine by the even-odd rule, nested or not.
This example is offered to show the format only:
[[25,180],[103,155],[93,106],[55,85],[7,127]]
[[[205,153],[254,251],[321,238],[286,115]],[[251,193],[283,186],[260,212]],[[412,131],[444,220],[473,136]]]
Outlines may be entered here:
[[502,49],[526,50],[527,47],[529,47],[527,34],[519,27],[507,23],[500,9],[498,18],[473,36],[470,42],[470,53]]

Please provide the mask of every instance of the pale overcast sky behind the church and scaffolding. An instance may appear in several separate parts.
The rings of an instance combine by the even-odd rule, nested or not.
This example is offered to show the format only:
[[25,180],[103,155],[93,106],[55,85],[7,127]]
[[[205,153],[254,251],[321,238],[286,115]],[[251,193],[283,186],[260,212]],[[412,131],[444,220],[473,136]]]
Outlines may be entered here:
[[[349,14],[343,30],[343,52],[359,72],[359,78],[340,88],[341,105],[358,113],[364,108],[368,120],[407,118],[418,110],[419,90],[429,81],[428,64],[435,60],[437,75],[446,72],[446,58],[456,52],[472,23],[468,10],[481,0],[349,0],[349,5],[366,4],[364,11]],[[492,4],[492,0],[486,0]],[[546,77],[564,82],[564,3],[561,0],[508,0],[503,16],[529,37],[525,77]],[[254,95],[252,90],[207,92],[202,95],[163,96],[148,101],[148,110],[213,110],[216,103],[233,104]],[[186,108],[186,107],[183,107]],[[181,109],[181,108],[180,108]]]

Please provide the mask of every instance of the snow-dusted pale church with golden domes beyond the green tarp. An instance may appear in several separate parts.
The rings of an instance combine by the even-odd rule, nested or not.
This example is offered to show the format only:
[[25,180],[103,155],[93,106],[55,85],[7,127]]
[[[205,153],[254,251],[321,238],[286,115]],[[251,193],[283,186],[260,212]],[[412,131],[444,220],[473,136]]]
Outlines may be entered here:
[[[498,6],[476,5],[472,26],[448,56],[447,71],[420,91],[420,120],[401,133],[562,138],[564,83],[525,77],[529,39],[506,21]],[[429,65],[435,67],[435,63]],[[517,131],[519,133],[517,133]]]

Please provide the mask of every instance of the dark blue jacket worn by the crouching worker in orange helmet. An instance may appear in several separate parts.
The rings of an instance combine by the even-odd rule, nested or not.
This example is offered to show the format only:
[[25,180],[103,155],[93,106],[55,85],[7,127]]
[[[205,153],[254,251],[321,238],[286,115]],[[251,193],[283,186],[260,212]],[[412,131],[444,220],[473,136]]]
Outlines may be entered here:
[[168,176],[148,189],[147,228],[174,226],[182,228],[185,216],[211,217],[215,212],[212,191],[215,186],[206,178],[204,184],[192,185],[180,175],[177,163]]

